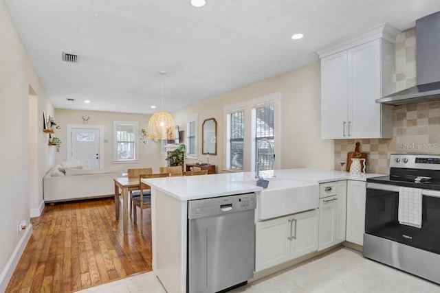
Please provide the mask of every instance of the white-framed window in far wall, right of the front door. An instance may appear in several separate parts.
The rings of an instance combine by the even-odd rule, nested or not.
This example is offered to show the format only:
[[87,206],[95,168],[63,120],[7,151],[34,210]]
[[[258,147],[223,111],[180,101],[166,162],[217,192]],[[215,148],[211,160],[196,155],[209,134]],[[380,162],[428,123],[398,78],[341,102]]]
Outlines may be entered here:
[[115,161],[137,160],[137,122],[115,121]]

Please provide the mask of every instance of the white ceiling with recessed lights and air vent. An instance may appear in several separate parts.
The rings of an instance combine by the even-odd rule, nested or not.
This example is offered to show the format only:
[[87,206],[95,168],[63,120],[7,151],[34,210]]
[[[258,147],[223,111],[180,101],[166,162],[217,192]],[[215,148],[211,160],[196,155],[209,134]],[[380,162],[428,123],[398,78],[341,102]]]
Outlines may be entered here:
[[[385,22],[406,30],[440,10],[439,0],[206,1],[5,3],[55,108],[126,113],[160,109],[162,82],[164,110],[177,110],[314,62],[340,38]],[[297,32],[305,37],[292,40]]]

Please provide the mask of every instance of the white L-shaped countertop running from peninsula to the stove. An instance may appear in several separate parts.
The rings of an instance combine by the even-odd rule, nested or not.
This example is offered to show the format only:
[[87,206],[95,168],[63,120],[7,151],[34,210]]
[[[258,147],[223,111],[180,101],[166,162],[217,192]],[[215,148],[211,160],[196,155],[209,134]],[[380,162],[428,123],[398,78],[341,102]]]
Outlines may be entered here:
[[[276,176],[276,178],[289,178],[310,183],[326,183],[338,180],[365,181],[366,178],[384,176],[384,174],[352,175],[349,172],[310,168],[281,169],[274,172],[261,172],[260,175],[265,178]],[[254,172],[146,178],[142,179],[142,182],[173,198],[185,201],[260,191],[262,187],[241,182],[252,180],[256,180]]]

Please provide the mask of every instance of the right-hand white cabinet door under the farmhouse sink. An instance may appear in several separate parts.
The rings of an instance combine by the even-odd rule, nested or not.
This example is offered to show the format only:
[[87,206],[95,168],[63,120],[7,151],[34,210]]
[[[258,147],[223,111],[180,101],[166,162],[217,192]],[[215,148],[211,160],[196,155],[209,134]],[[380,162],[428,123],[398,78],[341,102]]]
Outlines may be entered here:
[[316,209],[292,216],[293,235],[291,258],[318,250],[318,212]]

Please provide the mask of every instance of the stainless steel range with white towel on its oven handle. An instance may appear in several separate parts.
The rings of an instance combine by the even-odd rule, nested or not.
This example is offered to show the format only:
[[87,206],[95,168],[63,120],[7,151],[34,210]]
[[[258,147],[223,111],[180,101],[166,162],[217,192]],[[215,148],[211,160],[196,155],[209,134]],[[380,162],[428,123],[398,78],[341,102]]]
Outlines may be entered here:
[[366,181],[364,257],[440,283],[440,156],[391,154]]

